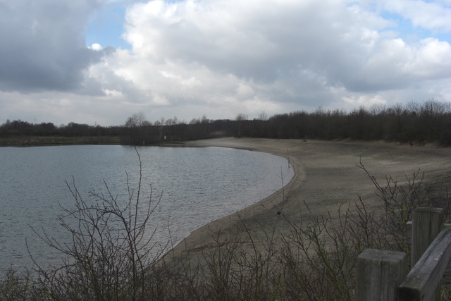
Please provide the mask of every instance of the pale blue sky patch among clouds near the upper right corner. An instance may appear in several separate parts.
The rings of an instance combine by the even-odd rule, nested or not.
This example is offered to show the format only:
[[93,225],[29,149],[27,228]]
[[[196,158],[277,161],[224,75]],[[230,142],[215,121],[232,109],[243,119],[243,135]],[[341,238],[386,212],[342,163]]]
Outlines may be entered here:
[[399,37],[406,40],[407,42],[416,42],[420,39],[426,39],[428,37],[433,37],[435,39],[439,39],[440,41],[446,41],[451,44],[451,33],[442,33],[442,32],[434,32],[432,30],[428,30],[424,27],[412,25],[412,21],[409,19],[402,18],[397,13],[390,13],[388,11],[384,11],[381,13],[381,16],[385,20],[390,20],[395,23],[395,26],[386,28],[387,30],[393,30],[398,33]]

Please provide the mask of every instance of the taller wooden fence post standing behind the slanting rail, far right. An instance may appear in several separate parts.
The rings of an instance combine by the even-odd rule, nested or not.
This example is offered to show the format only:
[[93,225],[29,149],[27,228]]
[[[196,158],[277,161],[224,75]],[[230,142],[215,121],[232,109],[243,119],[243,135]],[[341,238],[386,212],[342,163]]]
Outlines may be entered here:
[[[440,233],[443,223],[445,223],[445,210],[442,208],[419,207],[414,209],[412,218],[412,268]],[[440,300],[440,281],[432,300]]]

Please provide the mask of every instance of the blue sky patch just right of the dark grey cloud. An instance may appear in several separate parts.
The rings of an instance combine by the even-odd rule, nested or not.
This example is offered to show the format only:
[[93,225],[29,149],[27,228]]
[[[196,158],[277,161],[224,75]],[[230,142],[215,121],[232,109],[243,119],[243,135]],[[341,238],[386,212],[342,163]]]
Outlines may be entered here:
[[125,6],[104,6],[101,11],[97,11],[85,31],[86,46],[97,43],[101,47],[130,49],[131,45],[121,37],[125,10]]

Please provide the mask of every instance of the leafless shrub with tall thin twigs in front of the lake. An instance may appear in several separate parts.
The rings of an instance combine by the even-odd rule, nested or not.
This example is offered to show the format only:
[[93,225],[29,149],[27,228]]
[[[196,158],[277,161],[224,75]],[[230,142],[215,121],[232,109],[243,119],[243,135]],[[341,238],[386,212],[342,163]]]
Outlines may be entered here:
[[[140,155],[139,181],[132,188],[127,174],[128,195],[120,199],[104,183],[106,194],[92,190],[89,200],[80,195],[75,180],[68,189],[75,208],[62,208],[61,226],[71,242],[59,242],[47,233],[35,231],[49,247],[63,255],[62,266],[37,266],[35,284],[56,300],[143,300],[147,293],[146,273],[158,258],[152,254],[154,231],[147,223],[158,206],[151,192],[143,199]],[[75,223],[74,223],[75,221]],[[75,226],[74,226],[75,225]],[[158,252],[158,250],[157,250]],[[32,254],[30,253],[32,256]]]

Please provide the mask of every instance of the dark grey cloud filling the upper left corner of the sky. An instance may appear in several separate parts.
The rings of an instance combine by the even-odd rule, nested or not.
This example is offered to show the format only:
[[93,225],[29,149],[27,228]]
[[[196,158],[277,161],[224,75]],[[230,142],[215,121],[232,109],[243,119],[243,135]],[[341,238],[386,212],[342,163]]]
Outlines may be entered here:
[[14,0],[0,3],[0,89],[73,91],[105,51],[85,46],[96,1]]

